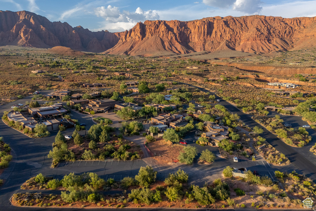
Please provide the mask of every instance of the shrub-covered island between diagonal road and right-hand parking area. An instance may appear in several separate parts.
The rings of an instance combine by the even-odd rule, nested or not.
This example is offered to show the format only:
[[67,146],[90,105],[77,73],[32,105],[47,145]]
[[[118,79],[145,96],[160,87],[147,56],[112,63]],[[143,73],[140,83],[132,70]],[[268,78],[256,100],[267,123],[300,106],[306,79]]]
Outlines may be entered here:
[[283,119],[279,115],[275,115],[275,117],[252,116],[252,119],[290,146],[302,147],[312,140],[312,136],[308,135],[304,127],[298,129],[284,127]]

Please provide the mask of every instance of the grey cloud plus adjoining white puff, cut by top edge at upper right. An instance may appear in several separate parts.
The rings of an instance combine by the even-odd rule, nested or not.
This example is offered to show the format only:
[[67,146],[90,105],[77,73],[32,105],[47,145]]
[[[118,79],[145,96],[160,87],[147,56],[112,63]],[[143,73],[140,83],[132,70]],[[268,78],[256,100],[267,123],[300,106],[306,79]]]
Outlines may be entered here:
[[260,0],[203,0],[203,3],[212,7],[230,8],[245,14],[260,14],[262,2]]

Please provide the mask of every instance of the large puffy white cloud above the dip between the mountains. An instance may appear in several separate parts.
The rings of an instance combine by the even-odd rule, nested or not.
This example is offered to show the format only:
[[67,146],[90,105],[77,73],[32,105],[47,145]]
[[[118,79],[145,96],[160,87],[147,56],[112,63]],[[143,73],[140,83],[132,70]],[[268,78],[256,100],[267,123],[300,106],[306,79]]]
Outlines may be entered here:
[[118,7],[98,7],[94,10],[95,15],[102,17],[105,21],[102,27],[97,30],[122,31],[133,28],[137,22],[144,22],[146,20],[158,20],[159,15],[152,10],[144,11],[138,7],[135,12],[120,11]]

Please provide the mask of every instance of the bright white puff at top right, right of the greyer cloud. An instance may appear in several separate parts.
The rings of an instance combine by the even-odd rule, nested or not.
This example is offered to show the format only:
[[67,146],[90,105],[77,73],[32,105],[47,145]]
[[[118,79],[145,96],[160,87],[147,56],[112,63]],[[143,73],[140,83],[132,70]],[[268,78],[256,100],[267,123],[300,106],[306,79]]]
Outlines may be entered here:
[[260,0],[236,0],[233,9],[246,14],[260,14],[262,7],[259,5],[261,3]]

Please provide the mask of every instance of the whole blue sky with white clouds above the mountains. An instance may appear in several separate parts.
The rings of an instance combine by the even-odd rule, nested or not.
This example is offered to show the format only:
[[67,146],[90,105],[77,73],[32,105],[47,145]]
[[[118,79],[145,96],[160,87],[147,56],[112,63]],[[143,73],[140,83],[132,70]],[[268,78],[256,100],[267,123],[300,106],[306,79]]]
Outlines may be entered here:
[[91,31],[124,31],[145,20],[214,16],[316,16],[316,0],[0,0],[0,10],[27,10]]

